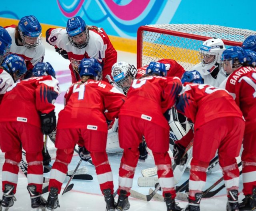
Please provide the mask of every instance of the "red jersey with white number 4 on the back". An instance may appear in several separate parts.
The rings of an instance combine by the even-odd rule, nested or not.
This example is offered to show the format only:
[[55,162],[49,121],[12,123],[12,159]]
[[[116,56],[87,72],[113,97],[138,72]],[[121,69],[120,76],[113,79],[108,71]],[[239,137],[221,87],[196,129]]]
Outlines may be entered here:
[[90,79],[84,84],[72,84],[64,98],[66,105],[59,119],[65,121],[58,121],[57,128],[107,131],[106,120],[118,116],[126,96],[107,82]]

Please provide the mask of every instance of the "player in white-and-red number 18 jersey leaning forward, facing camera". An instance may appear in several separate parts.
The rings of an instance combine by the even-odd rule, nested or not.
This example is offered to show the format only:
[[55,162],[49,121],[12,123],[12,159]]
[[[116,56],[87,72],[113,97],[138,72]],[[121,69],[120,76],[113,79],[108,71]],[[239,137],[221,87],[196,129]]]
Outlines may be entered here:
[[102,66],[103,81],[111,74],[117,60],[117,52],[103,28],[87,26],[80,16],[68,19],[66,29],[49,28],[46,41],[55,47],[62,57],[70,60],[72,83],[80,80],[78,66],[83,58],[95,58]]

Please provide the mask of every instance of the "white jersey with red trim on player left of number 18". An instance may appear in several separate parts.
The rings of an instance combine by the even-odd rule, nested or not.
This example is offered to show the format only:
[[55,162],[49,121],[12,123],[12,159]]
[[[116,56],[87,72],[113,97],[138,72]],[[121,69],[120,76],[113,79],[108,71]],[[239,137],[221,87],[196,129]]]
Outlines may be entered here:
[[45,54],[44,45],[41,43],[38,47],[33,49],[26,48],[25,46],[18,46],[15,42],[15,32],[16,32],[15,27],[16,27],[15,25],[5,27],[5,29],[7,30],[7,32],[10,34],[12,38],[12,45],[10,48],[10,52],[24,58],[27,69],[32,70],[33,67],[38,62],[43,62],[44,60],[44,54]]

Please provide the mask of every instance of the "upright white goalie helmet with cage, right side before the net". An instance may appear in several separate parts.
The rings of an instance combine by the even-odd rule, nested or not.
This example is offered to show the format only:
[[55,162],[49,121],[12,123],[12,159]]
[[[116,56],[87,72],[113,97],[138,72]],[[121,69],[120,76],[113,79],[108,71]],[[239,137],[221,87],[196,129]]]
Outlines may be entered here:
[[222,52],[226,50],[223,41],[219,38],[211,38],[203,42],[199,49],[199,55],[202,64],[202,74],[210,74],[221,63]]

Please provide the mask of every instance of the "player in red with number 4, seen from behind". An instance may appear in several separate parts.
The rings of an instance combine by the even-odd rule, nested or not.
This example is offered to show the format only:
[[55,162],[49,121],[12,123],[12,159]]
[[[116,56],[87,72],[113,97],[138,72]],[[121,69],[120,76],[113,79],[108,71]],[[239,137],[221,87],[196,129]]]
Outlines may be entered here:
[[[101,81],[102,67],[95,58],[84,58],[78,70],[81,79],[66,92],[66,105],[58,115],[56,161],[50,175],[47,208],[52,210],[59,206],[58,194],[79,140],[78,145],[90,151],[106,209],[114,211],[113,175],[106,154],[107,122],[118,116],[126,96],[108,82]],[[108,111],[104,112],[106,109]]]

